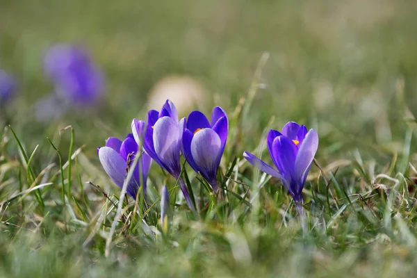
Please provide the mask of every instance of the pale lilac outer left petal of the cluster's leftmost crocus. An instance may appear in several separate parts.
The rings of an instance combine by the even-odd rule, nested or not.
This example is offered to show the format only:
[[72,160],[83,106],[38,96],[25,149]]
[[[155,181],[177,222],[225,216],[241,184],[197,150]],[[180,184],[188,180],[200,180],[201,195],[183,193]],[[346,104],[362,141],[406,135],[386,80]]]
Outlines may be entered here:
[[122,188],[124,177],[126,177],[126,161],[111,147],[101,147],[99,149],[99,159],[108,177]]

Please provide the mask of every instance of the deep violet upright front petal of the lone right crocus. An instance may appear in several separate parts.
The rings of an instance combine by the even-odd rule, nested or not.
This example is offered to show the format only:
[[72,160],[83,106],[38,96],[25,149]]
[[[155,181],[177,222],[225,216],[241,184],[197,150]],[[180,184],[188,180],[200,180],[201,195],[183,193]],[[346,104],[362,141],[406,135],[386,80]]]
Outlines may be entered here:
[[291,181],[295,180],[295,155],[297,147],[286,136],[278,136],[272,142],[272,160],[284,178],[284,185],[289,188]]

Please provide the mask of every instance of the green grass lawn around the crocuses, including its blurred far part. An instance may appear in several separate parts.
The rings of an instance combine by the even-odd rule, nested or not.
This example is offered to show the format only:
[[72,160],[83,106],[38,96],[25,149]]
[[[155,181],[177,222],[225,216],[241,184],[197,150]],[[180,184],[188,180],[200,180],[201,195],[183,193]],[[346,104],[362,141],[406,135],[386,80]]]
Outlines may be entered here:
[[[2,277],[414,275],[417,6],[411,1],[6,0],[0,6],[1,67],[20,81],[19,97],[7,108],[11,128],[0,131]],[[32,105],[52,90],[42,53],[57,41],[90,49],[106,74],[106,101],[97,111],[40,124]],[[142,196],[137,203],[129,198],[111,234],[120,189],[101,169],[97,147],[129,132],[133,117],[144,119],[147,93],[168,74],[193,76],[209,93],[204,113],[220,105],[229,115],[219,177],[226,194],[209,195],[187,166],[195,219],[174,179],[154,163],[149,206]],[[242,157],[254,151],[268,161],[266,131],[290,120],[320,136],[323,172],[313,165],[303,191],[306,233],[281,183]],[[158,219],[164,183],[173,210],[167,233]]]

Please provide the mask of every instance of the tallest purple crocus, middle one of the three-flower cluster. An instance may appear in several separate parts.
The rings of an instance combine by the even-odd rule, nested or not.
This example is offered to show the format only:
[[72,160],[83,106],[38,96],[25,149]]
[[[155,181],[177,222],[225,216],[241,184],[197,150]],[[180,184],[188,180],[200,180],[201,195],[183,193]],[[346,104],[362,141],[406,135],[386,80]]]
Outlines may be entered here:
[[[181,163],[179,161],[181,151],[181,138],[186,126],[186,119],[178,121],[177,108],[169,99],[163,105],[161,112],[151,110],[147,115],[147,126],[143,148],[158,165],[179,180],[179,187],[193,212],[195,208],[188,193],[186,184],[181,177]],[[132,122],[133,134],[141,133],[143,126]],[[139,144],[139,142],[138,142]]]

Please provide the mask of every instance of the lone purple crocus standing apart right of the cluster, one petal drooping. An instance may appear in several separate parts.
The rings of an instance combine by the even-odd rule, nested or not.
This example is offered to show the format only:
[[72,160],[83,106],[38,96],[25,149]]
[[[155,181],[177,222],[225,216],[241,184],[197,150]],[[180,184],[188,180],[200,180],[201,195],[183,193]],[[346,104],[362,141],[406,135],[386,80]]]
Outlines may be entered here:
[[270,156],[279,172],[249,152],[244,152],[243,157],[262,172],[281,179],[301,214],[302,188],[317,152],[318,135],[314,129],[307,132],[306,126],[288,122],[281,133],[270,130],[267,140]]

